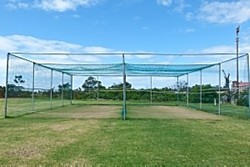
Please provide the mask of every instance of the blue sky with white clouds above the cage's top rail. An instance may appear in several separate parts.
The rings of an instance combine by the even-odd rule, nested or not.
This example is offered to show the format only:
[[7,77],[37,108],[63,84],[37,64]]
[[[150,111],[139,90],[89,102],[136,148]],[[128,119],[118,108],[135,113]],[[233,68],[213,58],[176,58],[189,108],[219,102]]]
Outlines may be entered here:
[[238,25],[249,52],[249,20],[248,0],[1,0],[0,71],[8,51],[235,52]]

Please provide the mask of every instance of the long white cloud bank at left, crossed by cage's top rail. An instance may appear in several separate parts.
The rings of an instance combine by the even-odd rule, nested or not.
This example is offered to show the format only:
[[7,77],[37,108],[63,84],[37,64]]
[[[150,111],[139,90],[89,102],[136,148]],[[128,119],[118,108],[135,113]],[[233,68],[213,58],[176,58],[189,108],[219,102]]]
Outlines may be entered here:
[[[79,44],[68,43],[56,40],[44,40],[35,38],[32,36],[23,35],[10,35],[0,36],[0,85],[4,85],[5,71],[6,71],[6,54],[8,52],[111,52],[111,49],[100,46],[84,47]],[[86,56],[68,56],[68,55],[30,55],[27,57],[31,60],[39,62],[51,63],[100,63],[102,59],[100,57],[86,55]]]

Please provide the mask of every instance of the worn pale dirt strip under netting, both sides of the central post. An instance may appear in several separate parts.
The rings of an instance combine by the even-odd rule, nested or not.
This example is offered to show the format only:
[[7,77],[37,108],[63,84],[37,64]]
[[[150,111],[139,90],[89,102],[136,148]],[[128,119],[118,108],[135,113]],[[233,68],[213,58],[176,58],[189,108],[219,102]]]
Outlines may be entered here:
[[[44,112],[37,112],[28,117],[70,118],[70,119],[120,119],[121,106],[112,105],[73,105]],[[222,120],[223,117],[178,106],[128,106],[128,119],[199,119]]]

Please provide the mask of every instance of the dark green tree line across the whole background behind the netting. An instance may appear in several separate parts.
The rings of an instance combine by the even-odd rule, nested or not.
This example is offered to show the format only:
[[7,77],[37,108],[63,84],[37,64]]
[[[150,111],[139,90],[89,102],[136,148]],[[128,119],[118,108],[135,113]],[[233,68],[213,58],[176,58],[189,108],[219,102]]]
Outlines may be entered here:
[[[8,85],[8,97],[28,98],[32,96],[32,90],[26,89],[22,86],[25,81],[22,76],[17,76],[14,79],[15,84]],[[225,88],[224,95],[227,96],[228,88]],[[155,102],[165,101],[185,101],[187,84],[185,81],[181,81],[173,87],[164,88],[153,88],[151,89],[135,89],[131,83],[126,82],[127,100],[139,100],[149,101],[151,97]],[[62,91],[65,99],[71,98],[71,85],[65,83],[58,85],[57,89],[52,89],[53,98],[61,98]],[[200,102],[200,85],[194,85],[188,87],[189,91],[189,102],[199,103]],[[178,93],[179,92],[179,93]],[[35,97],[48,98],[50,97],[51,90],[35,90]],[[0,98],[4,98],[5,87],[0,86]],[[102,82],[97,80],[95,77],[88,77],[82,84],[81,87],[72,90],[73,99],[76,100],[122,100],[123,99],[123,83],[114,83],[110,87],[105,87]],[[239,105],[247,104],[247,92],[243,92],[242,99],[238,100]],[[243,98],[244,97],[244,98]],[[202,102],[213,103],[214,99],[218,99],[218,86],[212,86],[210,84],[202,85]]]

